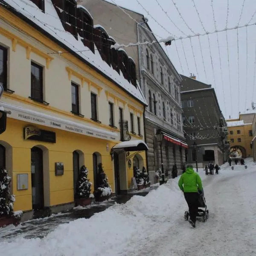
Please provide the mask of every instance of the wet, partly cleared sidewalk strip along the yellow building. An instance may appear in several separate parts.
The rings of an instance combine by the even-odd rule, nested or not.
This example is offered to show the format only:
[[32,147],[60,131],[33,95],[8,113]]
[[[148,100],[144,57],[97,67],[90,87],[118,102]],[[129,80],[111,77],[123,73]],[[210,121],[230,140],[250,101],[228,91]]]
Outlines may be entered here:
[[71,209],[67,212],[53,214],[50,217],[33,219],[30,221],[22,222],[17,227],[9,225],[7,227],[0,228],[0,239],[9,240],[17,237],[23,237],[25,239],[30,238],[43,238],[55,228],[64,223],[68,223],[78,218],[90,218],[94,213],[102,212],[108,207],[111,207],[115,202],[117,204],[126,203],[134,195],[145,196],[150,190],[156,189],[156,187],[145,189],[143,192],[129,193],[125,195],[119,195],[112,197],[108,201],[93,203],[88,207],[82,209]]

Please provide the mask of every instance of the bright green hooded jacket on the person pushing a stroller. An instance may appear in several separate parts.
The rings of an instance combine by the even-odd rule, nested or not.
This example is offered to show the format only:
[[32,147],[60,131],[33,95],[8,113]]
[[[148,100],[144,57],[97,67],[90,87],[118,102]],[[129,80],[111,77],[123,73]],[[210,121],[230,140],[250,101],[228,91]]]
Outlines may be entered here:
[[181,175],[178,185],[183,192],[198,192],[198,190],[203,190],[200,176],[190,167]]

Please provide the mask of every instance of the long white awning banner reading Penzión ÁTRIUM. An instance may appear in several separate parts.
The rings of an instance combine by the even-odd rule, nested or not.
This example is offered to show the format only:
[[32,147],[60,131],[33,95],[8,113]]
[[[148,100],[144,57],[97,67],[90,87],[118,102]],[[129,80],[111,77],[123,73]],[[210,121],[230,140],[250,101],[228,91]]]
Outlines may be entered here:
[[44,125],[47,127],[52,127],[64,131],[70,131],[77,134],[84,134],[87,136],[96,137],[104,140],[116,140],[117,137],[115,133],[110,131],[104,131],[90,127],[87,128],[85,125],[81,125],[80,127],[80,124],[76,122],[64,120],[61,118],[57,118],[55,116],[49,116],[35,111],[33,111],[33,113],[25,113],[26,111],[29,112],[30,110],[26,110],[14,105],[9,105],[5,102],[1,102],[1,104],[3,105],[3,108],[7,113],[7,117],[10,118],[30,122],[33,124]]

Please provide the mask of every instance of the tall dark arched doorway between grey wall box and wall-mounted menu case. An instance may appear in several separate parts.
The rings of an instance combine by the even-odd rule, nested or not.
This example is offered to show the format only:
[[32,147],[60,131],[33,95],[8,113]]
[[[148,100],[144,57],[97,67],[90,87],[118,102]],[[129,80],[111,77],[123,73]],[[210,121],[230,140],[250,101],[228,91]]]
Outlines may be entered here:
[[44,208],[44,175],[43,151],[41,148],[31,148],[31,181],[32,181],[32,208]]

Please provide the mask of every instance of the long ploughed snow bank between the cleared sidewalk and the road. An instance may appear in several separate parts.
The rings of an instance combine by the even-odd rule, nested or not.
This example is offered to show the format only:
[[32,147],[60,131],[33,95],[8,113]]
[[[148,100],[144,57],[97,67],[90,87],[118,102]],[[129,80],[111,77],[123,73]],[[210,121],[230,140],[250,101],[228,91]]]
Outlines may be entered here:
[[44,239],[1,241],[0,251],[6,256],[16,256],[17,250],[19,256],[113,255],[132,237],[153,228],[155,221],[170,219],[180,201],[183,194],[173,179],[145,197],[135,195],[126,204],[115,204],[90,219],[61,224]]

